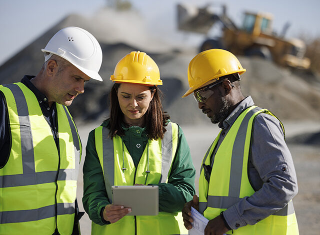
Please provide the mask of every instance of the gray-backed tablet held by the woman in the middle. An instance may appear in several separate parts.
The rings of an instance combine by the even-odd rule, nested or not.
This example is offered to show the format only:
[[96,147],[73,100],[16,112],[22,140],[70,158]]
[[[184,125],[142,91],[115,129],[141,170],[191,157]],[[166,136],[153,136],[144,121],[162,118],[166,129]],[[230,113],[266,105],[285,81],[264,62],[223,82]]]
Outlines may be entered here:
[[112,186],[112,204],[129,207],[127,216],[156,216],[159,212],[158,186]]

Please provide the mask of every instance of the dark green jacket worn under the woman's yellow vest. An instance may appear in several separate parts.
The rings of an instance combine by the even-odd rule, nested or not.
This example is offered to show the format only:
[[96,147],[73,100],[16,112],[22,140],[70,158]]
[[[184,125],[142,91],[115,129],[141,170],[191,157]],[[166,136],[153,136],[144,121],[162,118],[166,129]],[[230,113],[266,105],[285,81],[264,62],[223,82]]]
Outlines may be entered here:
[[[105,121],[101,126],[107,126]],[[140,160],[147,143],[145,128],[132,126],[123,128],[123,142],[129,151],[134,165]],[[183,132],[179,127],[179,139],[168,183],[157,184],[159,187],[159,210],[165,212],[180,212],[184,203],[192,200],[195,194],[195,169],[192,164],[190,150]],[[137,144],[141,146],[138,148]],[[103,208],[110,204],[104,187],[103,173],[94,145],[94,132],[91,131],[86,145],[86,156],[83,165],[83,198],[85,212],[91,221],[97,225],[105,225],[101,217]]]

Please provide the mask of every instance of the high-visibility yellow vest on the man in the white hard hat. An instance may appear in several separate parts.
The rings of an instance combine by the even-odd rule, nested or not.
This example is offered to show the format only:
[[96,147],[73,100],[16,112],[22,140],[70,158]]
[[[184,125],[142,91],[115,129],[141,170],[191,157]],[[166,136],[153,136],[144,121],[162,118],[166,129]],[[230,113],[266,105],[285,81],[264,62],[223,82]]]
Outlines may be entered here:
[[74,222],[81,142],[67,108],[56,103],[58,149],[32,91],[0,86],[11,132],[0,169],[0,235],[70,235]]

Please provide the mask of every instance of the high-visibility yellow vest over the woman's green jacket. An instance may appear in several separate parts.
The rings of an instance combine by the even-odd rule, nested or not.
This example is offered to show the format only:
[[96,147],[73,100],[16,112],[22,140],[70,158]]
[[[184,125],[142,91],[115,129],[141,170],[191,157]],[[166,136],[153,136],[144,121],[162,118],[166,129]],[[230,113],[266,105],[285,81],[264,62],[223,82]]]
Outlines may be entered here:
[[[178,126],[169,122],[163,139],[148,140],[137,167],[121,137],[108,138],[109,130],[94,130],[95,148],[104,175],[105,190],[112,202],[112,185],[167,183],[177,149]],[[122,168],[126,170],[122,170]],[[146,173],[146,171],[150,173]],[[92,235],[179,235],[187,234],[181,213],[159,212],[157,216],[125,216],[116,223],[100,226],[92,222]]]

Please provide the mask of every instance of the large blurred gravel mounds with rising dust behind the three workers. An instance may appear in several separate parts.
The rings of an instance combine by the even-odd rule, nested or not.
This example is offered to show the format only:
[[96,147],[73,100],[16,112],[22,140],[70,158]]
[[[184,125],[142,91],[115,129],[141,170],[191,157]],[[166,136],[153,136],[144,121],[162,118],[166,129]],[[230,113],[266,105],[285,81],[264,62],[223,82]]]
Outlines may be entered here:
[[[79,26],[92,32],[100,42],[103,62],[99,73],[103,82],[88,82],[84,94],[78,96],[69,107],[78,125],[106,118],[108,91],[112,85],[109,77],[117,61],[133,50],[145,51],[158,64],[163,80],[163,86],[160,87],[164,93],[163,106],[172,121],[179,124],[209,122],[197,108],[191,95],[181,98],[188,89],[187,66],[196,55],[196,48],[174,49],[161,43],[160,38],[152,38],[145,30],[143,20],[136,13],[121,14],[121,17],[130,14],[132,22],[114,20],[114,13],[110,10],[101,10],[92,18],[79,15],[64,18],[0,67],[0,83],[19,81],[24,74],[35,75],[43,63],[40,48],[44,48],[46,42],[59,29]],[[132,24],[139,25],[136,33],[130,30]],[[128,29],[130,33],[124,33],[124,29]],[[125,36],[131,34],[130,37]],[[305,77],[301,78],[301,74],[279,68],[270,61],[238,58],[246,68],[241,77],[243,94],[251,95],[256,105],[268,108],[280,119],[320,120],[319,83],[308,82]]]

